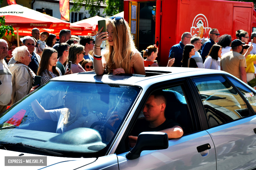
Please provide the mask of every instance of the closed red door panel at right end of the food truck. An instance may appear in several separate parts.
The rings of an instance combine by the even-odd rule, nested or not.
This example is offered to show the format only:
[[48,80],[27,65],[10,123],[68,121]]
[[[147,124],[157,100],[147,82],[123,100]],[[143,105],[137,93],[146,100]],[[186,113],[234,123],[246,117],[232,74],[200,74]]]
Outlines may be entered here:
[[245,30],[250,36],[252,12],[251,8],[234,7],[232,39],[236,39],[236,31],[239,29]]

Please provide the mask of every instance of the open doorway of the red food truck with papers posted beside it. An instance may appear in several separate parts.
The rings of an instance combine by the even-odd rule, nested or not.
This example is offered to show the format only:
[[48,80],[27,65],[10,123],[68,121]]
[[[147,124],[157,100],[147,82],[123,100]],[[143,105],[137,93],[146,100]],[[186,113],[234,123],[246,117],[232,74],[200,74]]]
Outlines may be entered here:
[[[126,13],[125,10],[124,12]],[[139,51],[154,44],[160,48],[160,17],[161,0],[129,1],[129,15],[125,20],[130,25],[135,46]]]

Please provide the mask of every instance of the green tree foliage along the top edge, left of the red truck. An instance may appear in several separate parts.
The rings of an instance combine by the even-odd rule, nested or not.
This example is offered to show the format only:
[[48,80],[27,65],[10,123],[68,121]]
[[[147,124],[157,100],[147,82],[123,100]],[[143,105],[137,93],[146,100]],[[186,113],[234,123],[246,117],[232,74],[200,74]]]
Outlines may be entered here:
[[99,15],[100,5],[106,5],[104,12],[107,16],[123,11],[123,0],[74,0],[71,11],[78,12],[85,5],[91,17]]

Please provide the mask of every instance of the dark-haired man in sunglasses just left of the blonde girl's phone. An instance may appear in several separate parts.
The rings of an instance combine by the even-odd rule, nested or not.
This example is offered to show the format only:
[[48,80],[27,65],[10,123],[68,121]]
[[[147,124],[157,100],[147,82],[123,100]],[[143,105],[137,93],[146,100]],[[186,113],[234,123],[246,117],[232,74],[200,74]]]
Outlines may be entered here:
[[80,44],[84,46],[84,59],[90,59],[93,61],[93,56],[89,54],[89,51],[94,49],[94,38],[91,35],[81,36],[80,37]]

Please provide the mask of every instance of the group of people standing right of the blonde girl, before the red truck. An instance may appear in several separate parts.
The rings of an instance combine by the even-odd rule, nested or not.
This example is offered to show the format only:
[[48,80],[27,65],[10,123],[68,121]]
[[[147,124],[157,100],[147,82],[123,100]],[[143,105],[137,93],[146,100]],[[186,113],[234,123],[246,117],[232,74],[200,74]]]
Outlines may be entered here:
[[231,35],[220,36],[218,29],[212,28],[209,37],[201,40],[184,32],[180,43],[170,49],[169,59],[175,59],[172,66],[223,70],[246,84],[255,79],[256,32],[249,37],[245,30],[237,30],[237,39],[232,41]]

